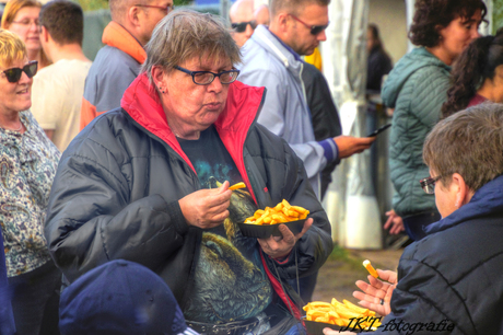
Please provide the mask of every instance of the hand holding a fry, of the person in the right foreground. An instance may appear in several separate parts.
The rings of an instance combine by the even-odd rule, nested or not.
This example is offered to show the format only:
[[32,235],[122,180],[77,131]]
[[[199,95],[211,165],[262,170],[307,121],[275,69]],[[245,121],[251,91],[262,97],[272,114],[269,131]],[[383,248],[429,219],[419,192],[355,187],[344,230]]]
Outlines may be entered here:
[[[397,273],[390,270],[376,269],[379,278],[369,275],[369,284],[363,280],[358,280],[356,286],[363,291],[354,291],[353,297],[359,299],[358,302],[365,309],[370,309],[386,316],[391,312],[389,302],[391,294],[397,286]],[[383,300],[383,304],[381,301]]]

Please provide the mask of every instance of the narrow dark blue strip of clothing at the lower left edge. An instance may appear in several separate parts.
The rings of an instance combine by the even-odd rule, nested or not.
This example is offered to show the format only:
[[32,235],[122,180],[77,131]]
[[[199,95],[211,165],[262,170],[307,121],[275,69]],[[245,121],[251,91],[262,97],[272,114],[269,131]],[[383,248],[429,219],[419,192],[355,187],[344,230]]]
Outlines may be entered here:
[[0,230],[0,335],[15,333],[14,315],[12,314],[11,293],[7,280],[5,254],[3,253],[3,236]]

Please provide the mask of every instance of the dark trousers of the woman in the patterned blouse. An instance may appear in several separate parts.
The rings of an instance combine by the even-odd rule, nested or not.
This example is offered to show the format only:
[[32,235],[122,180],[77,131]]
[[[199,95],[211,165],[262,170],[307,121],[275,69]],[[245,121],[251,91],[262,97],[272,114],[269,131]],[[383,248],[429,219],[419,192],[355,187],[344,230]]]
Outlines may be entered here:
[[61,273],[52,261],[9,278],[17,335],[59,334]]

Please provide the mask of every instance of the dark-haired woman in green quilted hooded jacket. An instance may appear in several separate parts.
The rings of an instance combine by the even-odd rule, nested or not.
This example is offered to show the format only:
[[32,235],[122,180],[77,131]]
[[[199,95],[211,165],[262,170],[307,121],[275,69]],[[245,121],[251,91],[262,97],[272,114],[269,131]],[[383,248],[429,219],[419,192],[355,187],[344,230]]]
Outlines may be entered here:
[[[394,211],[385,228],[399,224],[412,240],[441,217],[433,197],[414,187],[428,168],[421,158],[424,138],[438,122],[449,86],[451,66],[471,41],[486,16],[482,0],[417,0],[409,38],[419,46],[403,56],[384,83],[382,97],[394,108],[389,138]],[[391,231],[397,231],[391,227]]]

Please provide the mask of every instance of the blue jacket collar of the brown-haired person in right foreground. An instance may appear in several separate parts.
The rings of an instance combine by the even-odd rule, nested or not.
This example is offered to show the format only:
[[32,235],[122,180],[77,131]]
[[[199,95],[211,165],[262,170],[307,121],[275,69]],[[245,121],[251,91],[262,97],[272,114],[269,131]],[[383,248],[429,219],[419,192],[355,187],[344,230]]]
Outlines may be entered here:
[[487,183],[475,193],[471,200],[448,217],[424,228],[428,234],[443,231],[467,220],[503,211],[503,175]]

